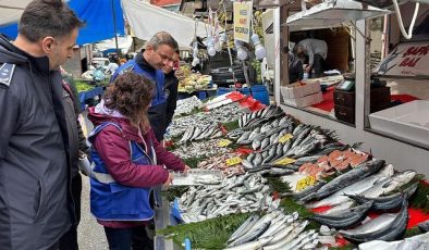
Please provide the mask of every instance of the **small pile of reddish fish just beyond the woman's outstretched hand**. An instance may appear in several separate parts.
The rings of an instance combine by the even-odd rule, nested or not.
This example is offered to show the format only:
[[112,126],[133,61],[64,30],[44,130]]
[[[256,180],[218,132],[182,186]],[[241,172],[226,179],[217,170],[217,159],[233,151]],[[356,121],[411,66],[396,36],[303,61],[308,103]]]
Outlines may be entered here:
[[238,157],[238,153],[225,153],[217,157],[211,157],[198,163],[198,168],[205,170],[220,170],[223,176],[231,177],[233,175],[242,175],[245,173],[242,164],[228,165],[226,160]]

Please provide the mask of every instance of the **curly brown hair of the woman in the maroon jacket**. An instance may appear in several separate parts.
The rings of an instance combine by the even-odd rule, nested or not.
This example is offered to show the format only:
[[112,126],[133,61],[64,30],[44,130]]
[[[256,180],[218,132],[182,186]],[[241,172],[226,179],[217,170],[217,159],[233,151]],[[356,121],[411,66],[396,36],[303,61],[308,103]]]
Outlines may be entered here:
[[152,100],[155,84],[143,75],[126,72],[119,75],[105,91],[105,105],[119,111],[134,125],[149,127],[147,109]]

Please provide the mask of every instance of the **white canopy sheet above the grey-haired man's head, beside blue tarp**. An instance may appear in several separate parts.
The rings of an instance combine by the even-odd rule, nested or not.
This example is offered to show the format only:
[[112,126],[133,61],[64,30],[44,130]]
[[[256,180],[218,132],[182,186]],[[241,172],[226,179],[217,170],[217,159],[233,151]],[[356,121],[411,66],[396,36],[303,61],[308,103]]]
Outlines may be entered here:
[[208,26],[203,22],[195,22],[193,18],[143,1],[121,0],[121,2],[135,36],[142,40],[150,40],[158,32],[168,32],[176,39],[179,46],[191,48],[194,30],[197,36],[207,37]]

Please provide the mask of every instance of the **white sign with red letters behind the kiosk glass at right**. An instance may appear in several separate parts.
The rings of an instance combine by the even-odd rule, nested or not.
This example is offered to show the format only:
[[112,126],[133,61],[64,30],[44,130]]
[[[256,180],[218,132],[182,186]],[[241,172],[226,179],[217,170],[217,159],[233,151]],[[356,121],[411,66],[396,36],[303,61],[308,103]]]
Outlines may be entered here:
[[375,72],[380,76],[429,76],[429,41],[400,43]]

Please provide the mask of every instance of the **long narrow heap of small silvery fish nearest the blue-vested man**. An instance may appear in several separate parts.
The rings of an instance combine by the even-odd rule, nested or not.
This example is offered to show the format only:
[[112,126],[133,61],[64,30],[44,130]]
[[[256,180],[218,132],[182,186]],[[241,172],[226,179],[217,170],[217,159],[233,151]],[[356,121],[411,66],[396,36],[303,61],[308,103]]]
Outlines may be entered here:
[[191,127],[197,127],[199,130],[205,130],[219,123],[229,123],[236,121],[238,115],[243,113],[243,109],[235,103],[211,110],[209,112],[200,112],[188,116],[183,116],[173,120],[169,126],[169,134],[172,137],[183,135]]

